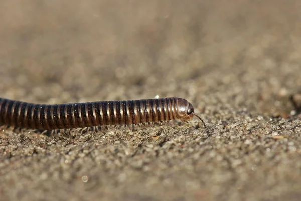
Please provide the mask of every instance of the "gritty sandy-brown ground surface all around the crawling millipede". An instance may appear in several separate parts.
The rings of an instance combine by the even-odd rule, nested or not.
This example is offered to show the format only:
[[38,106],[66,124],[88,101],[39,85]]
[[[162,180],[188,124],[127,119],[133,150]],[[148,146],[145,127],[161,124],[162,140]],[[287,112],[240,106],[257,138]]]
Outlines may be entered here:
[[[1,1],[1,97],[182,97],[207,123],[2,127],[0,200],[300,200],[300,1]],[[296,114],[296,115],[294,115]],[[293,116],[292,116],[293,115]]]

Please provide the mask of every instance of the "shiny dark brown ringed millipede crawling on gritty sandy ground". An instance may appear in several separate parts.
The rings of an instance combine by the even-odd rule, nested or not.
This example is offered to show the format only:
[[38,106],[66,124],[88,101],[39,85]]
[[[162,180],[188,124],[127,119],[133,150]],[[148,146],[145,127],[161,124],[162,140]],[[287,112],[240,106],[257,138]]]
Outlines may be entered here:
[[33,104],[0,98],[0,124],[29,129],[54,130],[108,125],[190,121],[194,114],[183,98],[97,101],[68,104]]

